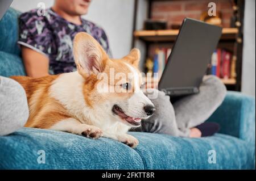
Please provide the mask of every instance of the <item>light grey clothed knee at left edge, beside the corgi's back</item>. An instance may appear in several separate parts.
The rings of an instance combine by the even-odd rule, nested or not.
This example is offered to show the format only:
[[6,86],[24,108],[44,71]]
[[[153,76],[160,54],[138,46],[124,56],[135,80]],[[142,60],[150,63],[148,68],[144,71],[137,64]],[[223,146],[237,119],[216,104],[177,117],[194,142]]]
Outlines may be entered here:
[[28,119],[27,96],[13,79],[0,76],[0,136],[22,128]]

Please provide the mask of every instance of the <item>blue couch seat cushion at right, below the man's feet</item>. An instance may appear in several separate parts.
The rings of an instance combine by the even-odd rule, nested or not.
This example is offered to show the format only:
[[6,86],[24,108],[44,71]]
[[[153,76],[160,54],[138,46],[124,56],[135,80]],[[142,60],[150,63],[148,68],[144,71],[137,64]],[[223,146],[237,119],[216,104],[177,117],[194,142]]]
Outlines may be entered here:
[[[146,169],[253,169],[246,141],[225,134],[181,138],[166,134],[131,133],[139,138],[136,151]],[[216,153],[216,163],[209,163]],[[209,153],[209,155],[208,155]]]

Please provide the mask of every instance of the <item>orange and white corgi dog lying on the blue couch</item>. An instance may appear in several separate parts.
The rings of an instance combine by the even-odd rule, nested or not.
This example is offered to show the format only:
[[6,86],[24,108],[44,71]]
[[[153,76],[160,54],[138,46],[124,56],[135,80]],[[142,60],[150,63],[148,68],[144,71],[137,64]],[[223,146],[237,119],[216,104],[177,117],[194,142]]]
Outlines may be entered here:
[[[110,59],[92,36],[80,32],[73,41],[73,54],[77,71],[41,78],[11,77],[26,91],[30,116],[25,127],[94,139],[103,136],[135,148],[138,140],[127,132],[141,126],[141,120],[155,111],[141,90],[139,50],[132,49],[118,60]],[[115,79],[118,74],[125,76]],[[100,75],[108,78],[103,81]],[[108,90],[121,91],[102,91],[98,86],[102,82]]]

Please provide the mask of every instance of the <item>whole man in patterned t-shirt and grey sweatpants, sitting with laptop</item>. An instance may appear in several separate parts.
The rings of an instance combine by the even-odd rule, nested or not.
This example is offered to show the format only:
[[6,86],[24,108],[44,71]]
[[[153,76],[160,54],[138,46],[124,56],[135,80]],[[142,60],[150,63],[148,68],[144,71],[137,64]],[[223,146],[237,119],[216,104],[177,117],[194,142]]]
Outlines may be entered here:
[[[55,0],[44,16],[39,16],[38,10],[20,15],[18,44],[21,45],[28,76],[36,78],[75,71],[72,40],[76,33],[82,31],[90,33],[111,56],[104,30],[81,18],[81,15],[88,12],[90,2],[91,0]],[[158,98],[151,99],[156,107],[155,115],[144,120],[139,131],[183,137],[212,135],[217,132],[217,125],[210,124],[209,127],[209,124],[200,124],[220,106],[225,93],[225,86],[213,76],[204,78],[199,94],[177,100],[174,107],[169,96],[158,91]],[[196,128],[197,125],[200,126]]]

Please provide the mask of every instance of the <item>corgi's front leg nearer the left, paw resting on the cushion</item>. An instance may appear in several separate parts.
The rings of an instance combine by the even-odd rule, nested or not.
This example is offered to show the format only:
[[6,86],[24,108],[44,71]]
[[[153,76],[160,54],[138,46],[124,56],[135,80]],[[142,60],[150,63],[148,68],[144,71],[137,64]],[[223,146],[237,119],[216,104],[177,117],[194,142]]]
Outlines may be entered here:
[[102,136],[102,131],[100,128],[94,127],[93,125],[82,124],[80,121],[73,118],[61,120],[49,129],[79,134],[94,139],[100,138]]

